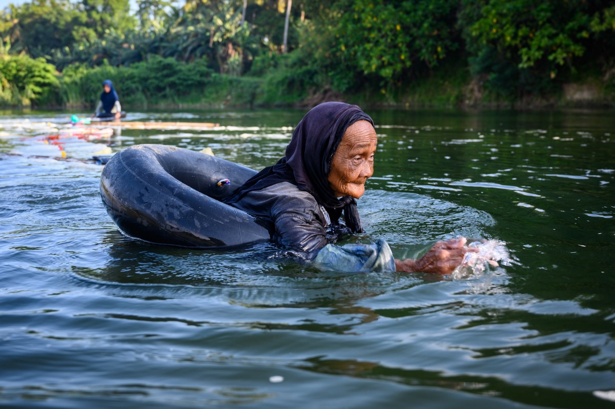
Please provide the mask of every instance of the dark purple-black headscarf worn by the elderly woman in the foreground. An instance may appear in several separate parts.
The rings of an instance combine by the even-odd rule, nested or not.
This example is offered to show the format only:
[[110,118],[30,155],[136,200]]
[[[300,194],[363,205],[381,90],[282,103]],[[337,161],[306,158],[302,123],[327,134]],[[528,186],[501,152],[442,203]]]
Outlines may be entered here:
[[367,120],[374,125],[370,116],[356,105],[328,102],[315,106],[295,128],[285,157],[248,179],[226,203],[235,203],[253,190],[290,182],[314,196],[327,209],[333,221],[339,219],[343,208],[346,226],[352,232],[362,233],[357,202],[350,196],[336,198],[327,180],[331,160],[344,132],[358,120]]

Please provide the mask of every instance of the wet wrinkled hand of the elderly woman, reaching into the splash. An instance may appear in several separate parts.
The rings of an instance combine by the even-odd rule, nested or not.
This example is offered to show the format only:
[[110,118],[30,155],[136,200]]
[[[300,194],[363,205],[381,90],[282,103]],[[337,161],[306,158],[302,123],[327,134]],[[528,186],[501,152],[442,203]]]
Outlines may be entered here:
[[451,274],[461,264],[467,252],[478,251],[478,249],[464,247],[466,242],[465,237],[438,241],[420,259],[395,259],[395,269],[405,273]]

